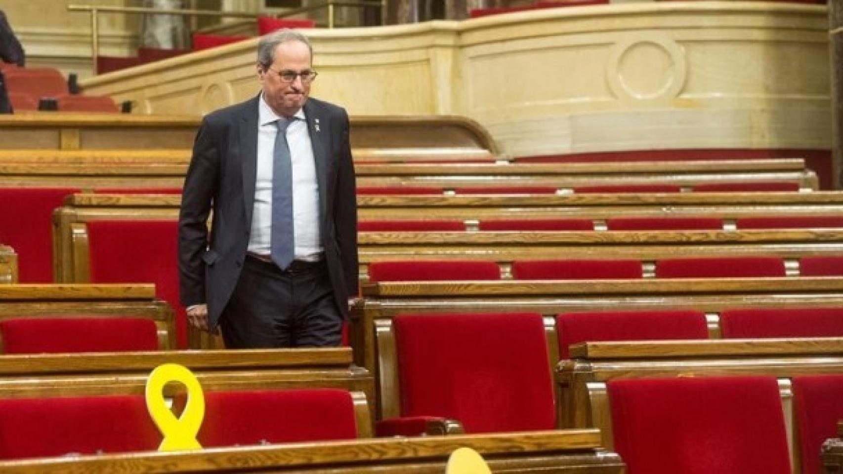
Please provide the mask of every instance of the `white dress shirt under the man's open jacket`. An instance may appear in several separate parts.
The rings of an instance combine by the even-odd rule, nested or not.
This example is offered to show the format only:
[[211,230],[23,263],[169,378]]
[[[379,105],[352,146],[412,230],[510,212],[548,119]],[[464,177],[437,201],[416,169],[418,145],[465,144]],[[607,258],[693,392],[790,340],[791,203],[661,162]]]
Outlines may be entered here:
[[[266,104],[263,94],[258,101],[258,157],[255,182],[255,207],[249,252],[269,256],[272,226],[272,157],[278,133],[278,115]],[[319,186],[304,110],[299,109],[287,127],[287,145],[293,164],[293,233],[295,258],[314,260],[322,253],[319,237]]]

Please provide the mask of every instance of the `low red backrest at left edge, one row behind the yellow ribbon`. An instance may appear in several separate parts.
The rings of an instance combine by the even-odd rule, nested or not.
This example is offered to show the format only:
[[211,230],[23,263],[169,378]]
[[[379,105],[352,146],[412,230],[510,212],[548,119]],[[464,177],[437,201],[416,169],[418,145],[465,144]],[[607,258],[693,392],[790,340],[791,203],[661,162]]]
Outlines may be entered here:
[[141,317],[21,317],[0,321],[3,354],[158,350],[158,328]]

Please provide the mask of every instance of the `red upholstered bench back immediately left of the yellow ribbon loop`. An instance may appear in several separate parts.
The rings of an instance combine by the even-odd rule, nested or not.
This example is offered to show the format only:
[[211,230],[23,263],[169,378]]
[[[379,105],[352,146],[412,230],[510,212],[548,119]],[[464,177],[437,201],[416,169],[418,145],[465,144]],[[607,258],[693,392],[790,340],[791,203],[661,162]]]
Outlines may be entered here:
[[0,458],[157,450],[142,396],[0,399]]

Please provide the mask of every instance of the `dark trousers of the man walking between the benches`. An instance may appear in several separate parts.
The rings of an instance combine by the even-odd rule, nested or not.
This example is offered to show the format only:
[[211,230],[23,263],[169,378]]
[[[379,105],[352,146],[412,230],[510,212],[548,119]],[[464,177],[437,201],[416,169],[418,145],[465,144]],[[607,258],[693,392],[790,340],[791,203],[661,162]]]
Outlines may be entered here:
[[325,261],[282,271],[246,257],[220,329],[230,349],[340,345],[342,315]]

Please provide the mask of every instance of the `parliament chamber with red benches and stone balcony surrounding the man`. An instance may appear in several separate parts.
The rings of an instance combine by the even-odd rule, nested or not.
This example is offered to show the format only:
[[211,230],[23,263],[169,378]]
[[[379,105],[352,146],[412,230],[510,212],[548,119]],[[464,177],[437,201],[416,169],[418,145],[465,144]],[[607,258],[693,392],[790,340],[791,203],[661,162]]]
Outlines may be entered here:
[[[86,2],[0,3],[0,472],[843,470],[843,2]],[[280,29],[359,295],[226,349],[185,173]]]

